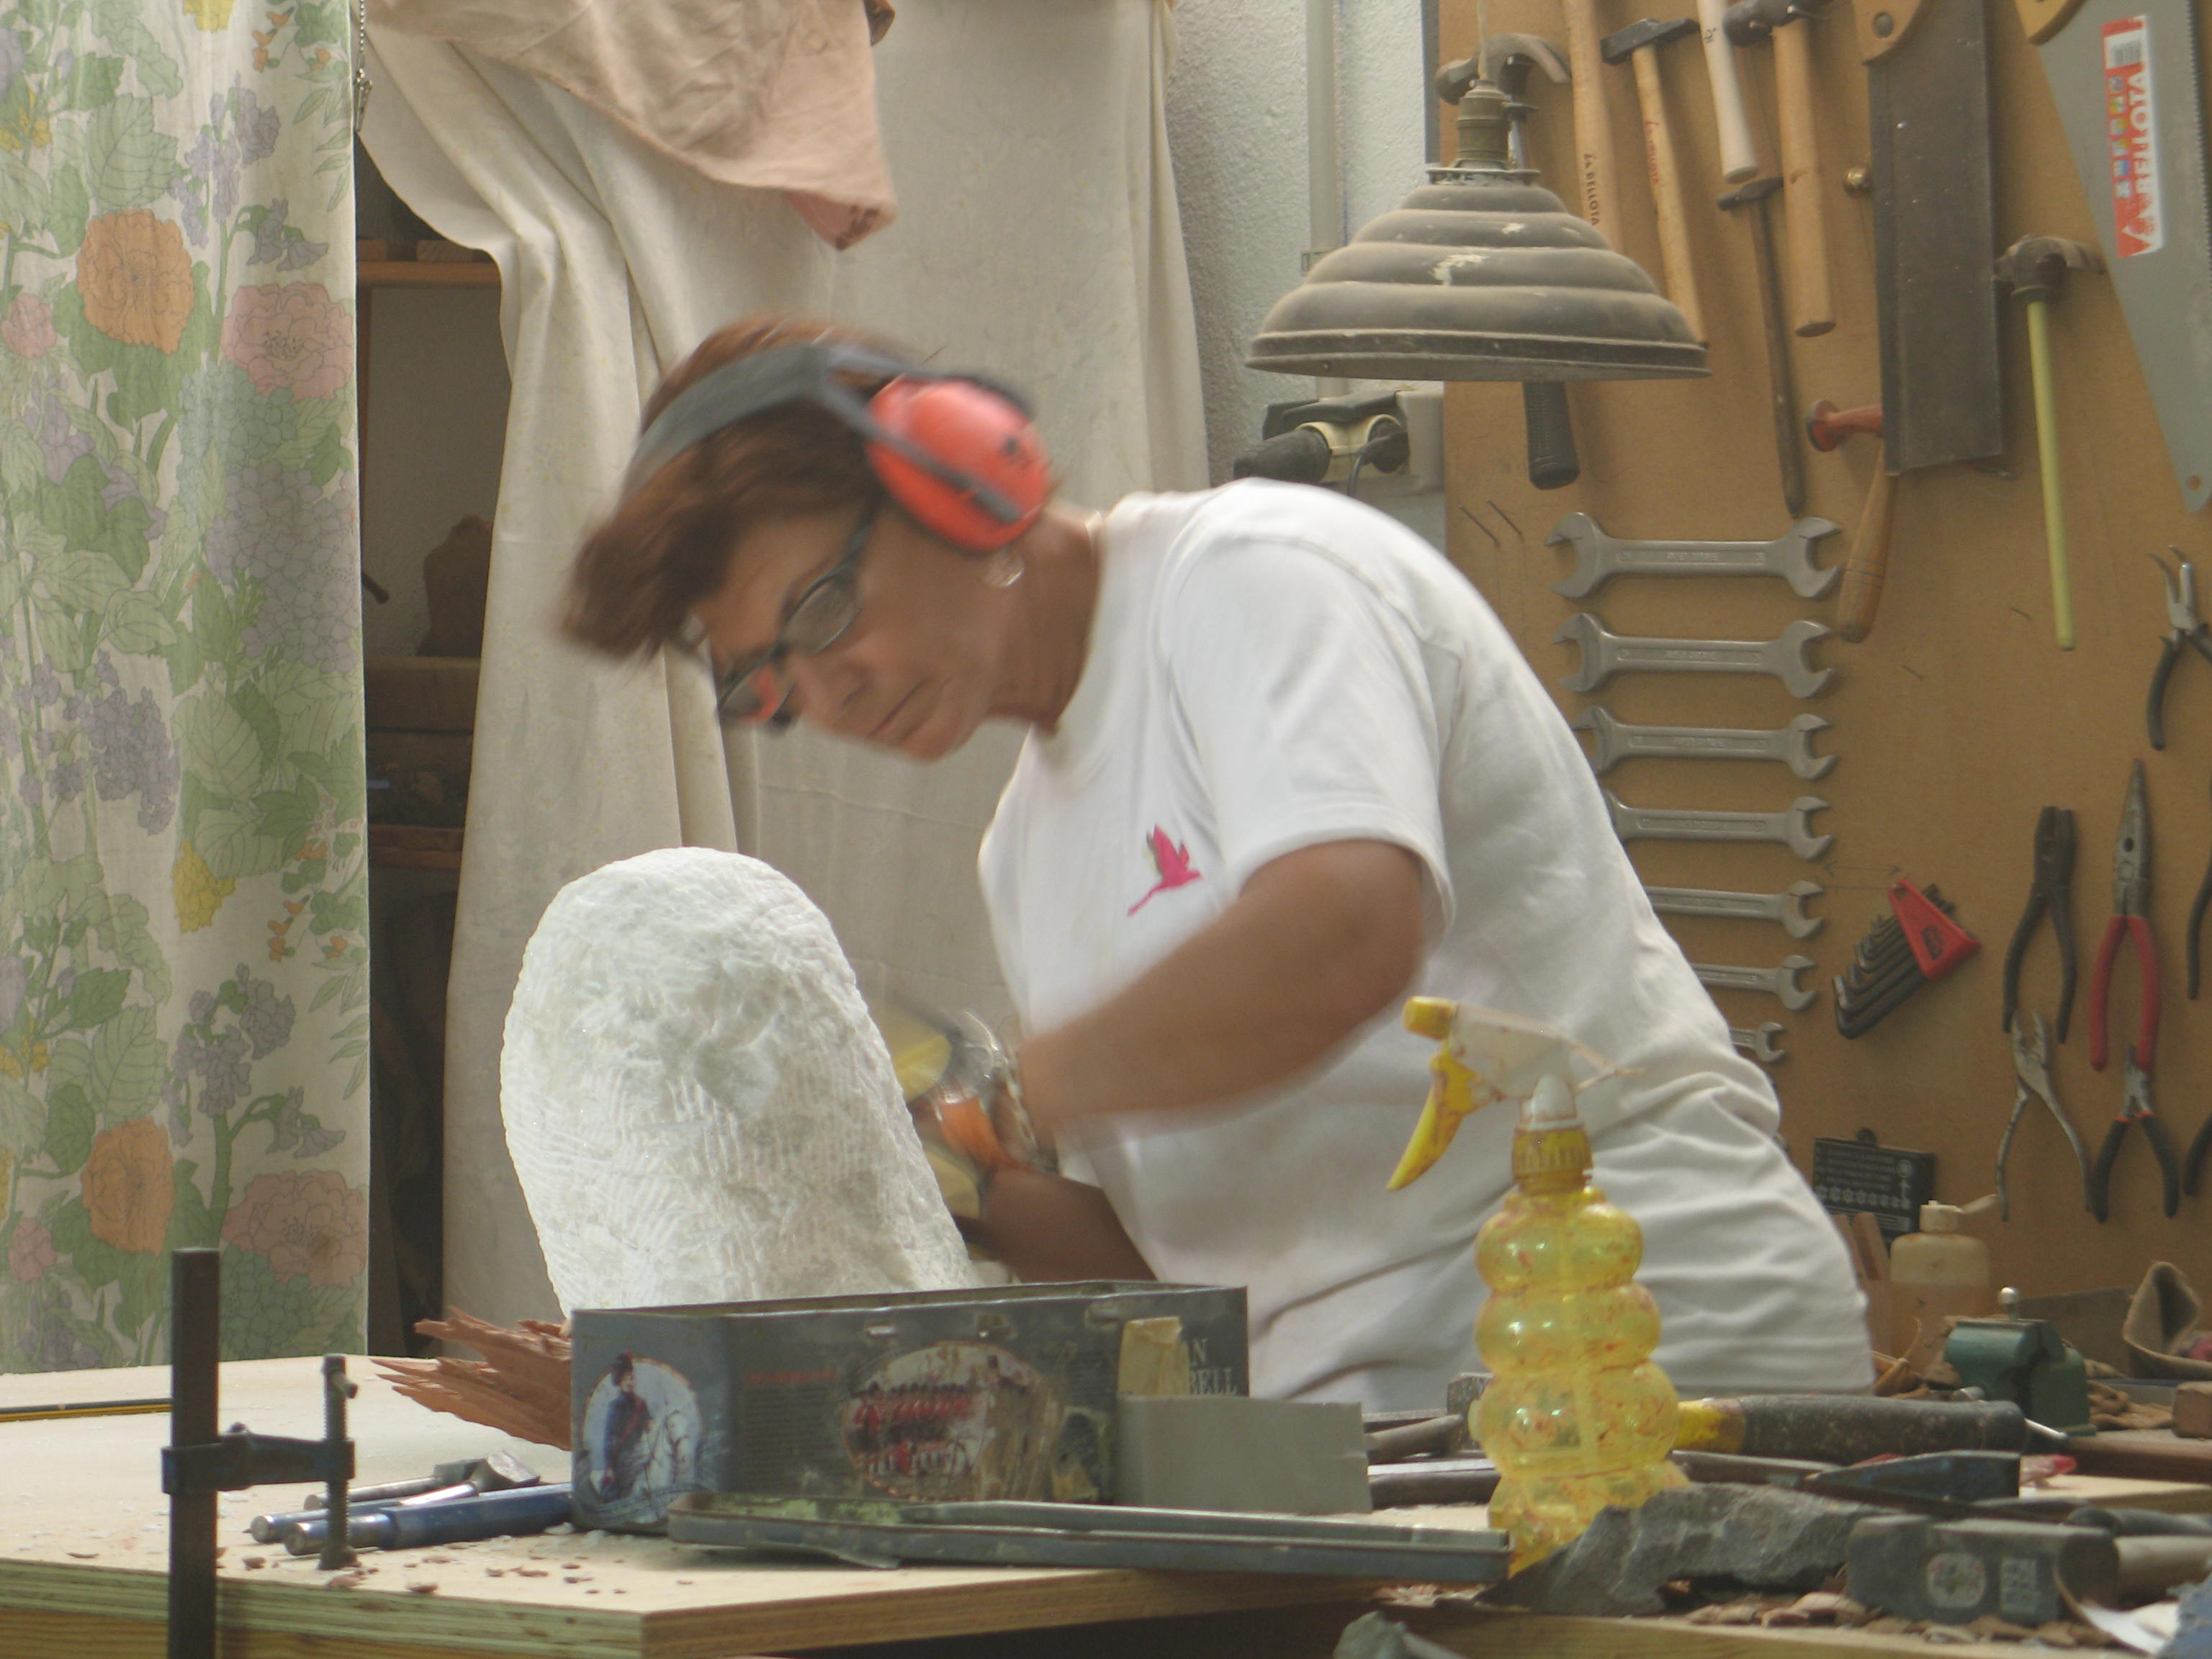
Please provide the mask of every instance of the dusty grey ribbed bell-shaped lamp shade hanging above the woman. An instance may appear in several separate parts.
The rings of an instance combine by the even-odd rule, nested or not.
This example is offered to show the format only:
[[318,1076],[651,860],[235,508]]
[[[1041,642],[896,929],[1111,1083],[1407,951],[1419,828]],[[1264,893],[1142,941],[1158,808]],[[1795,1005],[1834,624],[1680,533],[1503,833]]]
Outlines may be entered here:
[[1376,380],[1646,380],[1705,347],[1644,268],[1506,161],[1509,100],[1460,100],[1460,157],[1314,261],[1245,363]]

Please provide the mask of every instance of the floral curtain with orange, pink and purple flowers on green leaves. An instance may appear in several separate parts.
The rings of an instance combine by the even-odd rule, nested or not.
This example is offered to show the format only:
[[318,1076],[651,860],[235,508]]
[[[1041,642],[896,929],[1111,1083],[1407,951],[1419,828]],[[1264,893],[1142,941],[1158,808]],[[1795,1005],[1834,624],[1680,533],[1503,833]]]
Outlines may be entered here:
[[0,4],[0,1371],[363,1345],[345,0]]

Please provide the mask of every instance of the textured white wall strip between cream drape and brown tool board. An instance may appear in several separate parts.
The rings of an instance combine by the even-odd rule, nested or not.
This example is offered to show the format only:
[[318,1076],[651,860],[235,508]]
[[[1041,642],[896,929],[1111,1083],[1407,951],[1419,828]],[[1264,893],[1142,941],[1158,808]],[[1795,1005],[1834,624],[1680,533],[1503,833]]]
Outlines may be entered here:
[[[1168,142],[1199,314],[1206,440],[1217,480],[1259,442],[1270,403],[1312,380],[1243,365],[1267,307],[1298,281],[1305,223],[1305,0],[1181,0]],[[1338,0],[1336,124],[1345,234],[1396,208],[1427,159],[1420,0]]]

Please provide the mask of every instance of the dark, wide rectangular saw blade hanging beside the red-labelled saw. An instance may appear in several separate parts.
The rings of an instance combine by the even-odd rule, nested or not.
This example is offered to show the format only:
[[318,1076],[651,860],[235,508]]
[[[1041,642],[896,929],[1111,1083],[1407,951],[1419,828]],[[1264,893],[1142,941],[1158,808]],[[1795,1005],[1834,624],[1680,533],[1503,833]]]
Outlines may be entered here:
[[2004,451],[1984,0],[1927,0],[1867,66],[1889,471]]

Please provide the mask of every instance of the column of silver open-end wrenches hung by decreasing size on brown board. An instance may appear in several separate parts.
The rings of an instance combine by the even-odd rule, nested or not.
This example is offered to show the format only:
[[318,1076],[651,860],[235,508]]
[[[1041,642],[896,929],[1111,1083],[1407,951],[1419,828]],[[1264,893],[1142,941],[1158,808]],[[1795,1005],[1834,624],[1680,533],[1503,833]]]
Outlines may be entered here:
[[[1840,577],[1840,566],[1818,564],[1816,549],[1836,533],[1825,518],[1801,518],[1772,542],[1624,542],[1608,535],[1588,513],[1568,513],[1546,538],[1564,546],[1573,571],[1555,584],[1568,599],[1586,599],[1617,575],[1770,575],[1790,584],[1803,599],[1825,597]],[[1577,692],[1601,690],[1615,675],[1767,675],[1794,697],[1818,697],[1836,677],[1812,653],[1832,630],[1818,622],[1792,622],[1774,639],[1644,639],[1617,635],[1588,611],[1571,615],[1555,637],[1579,648],[1575,672],[1559,684]],[[1573,717],[1579,732],[1593,737],[1590,770],[1599,776],[1621,761],[1770,761],[1790,768],[1798,779],[1827,776],[1834,754],[1814,752],[1814,734],[1829,721],[1820,714],[1798,714],[1774,730],[1734,730],[1719,726],[1630,726],[1604,703],[1590,703]],[[1613,832],[1624,841],[1710,841],[1774,843],[1798,858],[1820,858],[1834,836],[1812,827],[1814,814],[1827,807],[1816,794],[1801,794],[1778,812],[1686,812],[1677,807],[1637,807],[1604,790]],[[1805,900],[1825,889],[1816,880],[1790,883],[1778,894],[1728,891],[1710,887],[1646,887],[1652,909],[1661,916],[1717,916],[1723,920],[1774,922],[1792,940],[1820,929],[1818,916],[1807,916]],[[1790,1013],[1803,1013],[1818,1000],[1818,989],[1798,975],[1814,969],[1809,956],[1785,956],[1774,967],[1694,962],[1697,978],[1723,991],[1761,991]],[[1838,993],[1843,980],[1836,982]],[[1778,1020],[1754,1029],[1730,1026],[1730,1040],[1763,1066],[1783,1060],[1776,1037]]]

